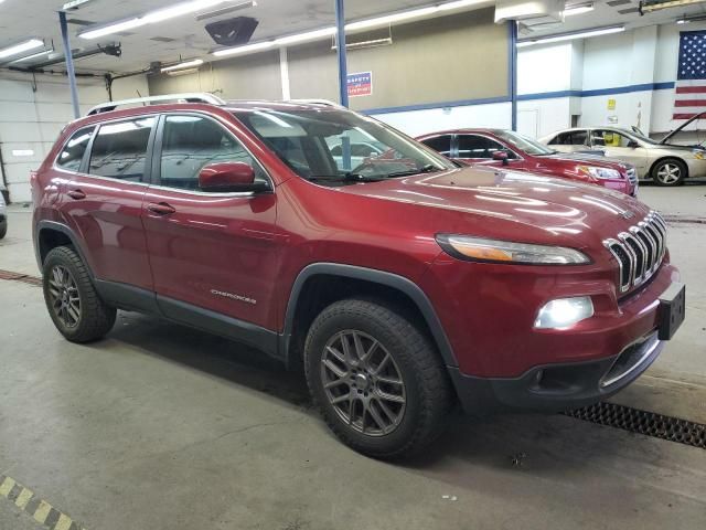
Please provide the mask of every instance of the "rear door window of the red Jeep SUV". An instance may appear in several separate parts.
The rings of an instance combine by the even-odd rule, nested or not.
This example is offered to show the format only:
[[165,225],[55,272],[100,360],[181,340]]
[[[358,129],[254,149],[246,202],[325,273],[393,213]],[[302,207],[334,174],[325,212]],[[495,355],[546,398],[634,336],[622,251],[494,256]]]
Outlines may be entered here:
[[147,144],[157,118],[106,124],[93,142],[88,172],[140,182],[145,179]]

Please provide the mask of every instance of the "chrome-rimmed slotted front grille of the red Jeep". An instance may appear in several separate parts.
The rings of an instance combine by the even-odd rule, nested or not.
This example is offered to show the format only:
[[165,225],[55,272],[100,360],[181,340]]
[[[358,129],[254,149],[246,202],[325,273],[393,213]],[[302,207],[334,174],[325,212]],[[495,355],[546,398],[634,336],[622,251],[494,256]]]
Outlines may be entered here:
[[662,265],[666,252],[666,223],[657,212],[617,237],[603,242],[618,261],[620,292],[644,284]]

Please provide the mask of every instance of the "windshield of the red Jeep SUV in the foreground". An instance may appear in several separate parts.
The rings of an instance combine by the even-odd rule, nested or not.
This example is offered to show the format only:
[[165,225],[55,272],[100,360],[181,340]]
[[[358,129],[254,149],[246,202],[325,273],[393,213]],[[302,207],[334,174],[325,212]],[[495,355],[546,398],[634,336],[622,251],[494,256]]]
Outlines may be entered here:
[[456,166],[383,124],[336,108],[236,110],[297,174],[318,183],[378,181]]

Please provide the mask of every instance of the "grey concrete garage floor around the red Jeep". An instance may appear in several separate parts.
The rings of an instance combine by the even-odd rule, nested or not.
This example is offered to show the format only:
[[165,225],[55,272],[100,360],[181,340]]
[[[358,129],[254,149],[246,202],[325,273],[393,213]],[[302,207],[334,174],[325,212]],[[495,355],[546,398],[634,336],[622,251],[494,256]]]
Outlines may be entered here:
[[[706,186],[641,195],[706,216]],[[0,269],[38,274],[29,227],[13,206]],[[687,321],[614,401],[706,422],[705,235],[671,223]],[[459,417],[424,457],[385,464],[240,344],[126,312],[106,340],[71,344],[17,282],[0,280],[0,475],[88,530],[706,528],[704,449],[560,415]],[[0,529],[31,528],[0,498]]]

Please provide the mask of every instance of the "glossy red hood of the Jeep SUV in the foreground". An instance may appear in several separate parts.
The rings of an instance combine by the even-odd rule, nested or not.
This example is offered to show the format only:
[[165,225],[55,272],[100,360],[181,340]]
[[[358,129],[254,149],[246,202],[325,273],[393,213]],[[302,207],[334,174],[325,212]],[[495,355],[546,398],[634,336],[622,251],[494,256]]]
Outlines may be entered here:
[[[434,209],[415,215],[436,232],[585,247],[628,230],[650,209],[592,184],[498,168],[471,167],[340,188],[342,192]],[[440,214],[445,211],[446,215]],[[425,212],[427,213],[427,212]]]

